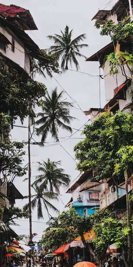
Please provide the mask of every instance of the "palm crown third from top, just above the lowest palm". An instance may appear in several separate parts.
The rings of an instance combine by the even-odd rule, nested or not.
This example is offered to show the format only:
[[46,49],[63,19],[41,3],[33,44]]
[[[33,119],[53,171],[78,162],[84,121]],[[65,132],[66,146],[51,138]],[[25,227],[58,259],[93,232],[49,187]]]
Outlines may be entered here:
[[[58,168],[61,165],[61,161],[50,161],[48,158],[47,162],[39,163],[37,171],[43,172],[36,176],[36,181],[33,183],[35,186],[39,186],[40,189],[54,192],[54,190],[60,194],[60,187],[67,188],[70,184],[70,175],[64,174],[64,169]],[[32,185],[33,185],[32,184]]]

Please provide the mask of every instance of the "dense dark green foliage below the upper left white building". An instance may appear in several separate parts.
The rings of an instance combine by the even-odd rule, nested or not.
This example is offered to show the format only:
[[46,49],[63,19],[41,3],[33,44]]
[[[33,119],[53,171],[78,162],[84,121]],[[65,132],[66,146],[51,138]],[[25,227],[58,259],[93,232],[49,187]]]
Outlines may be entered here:
[[[0,84],[0,112],[8,113],[10,110],[12,121],[18,116],[23,121],[29,112],[29,101],[34,108],[40,98],[45,96],[47,89],[44,84],[37,81],[22,80],[15,70],[4,77],[0,75]],[[32,112],[35,116],[34,111]]]

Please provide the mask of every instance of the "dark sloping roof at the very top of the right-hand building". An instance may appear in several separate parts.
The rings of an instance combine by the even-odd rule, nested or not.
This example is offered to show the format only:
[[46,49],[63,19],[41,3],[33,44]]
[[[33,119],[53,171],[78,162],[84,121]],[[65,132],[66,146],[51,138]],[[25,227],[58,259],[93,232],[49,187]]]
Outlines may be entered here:
[[115,5],[109,9],[109,10],[98,10],[98,12],[94,15],[93,19],[100,19],[100,20],[105,20],[107,15],[111,15],[114,13],[117,13],[117,17],[122,13],[122,11],[127,7],[128,0],[118,0]]

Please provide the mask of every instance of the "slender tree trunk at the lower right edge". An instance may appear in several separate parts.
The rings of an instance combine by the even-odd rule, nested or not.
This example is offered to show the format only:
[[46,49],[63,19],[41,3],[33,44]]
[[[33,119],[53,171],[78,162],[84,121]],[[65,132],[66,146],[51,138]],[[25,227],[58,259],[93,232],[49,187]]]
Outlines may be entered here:
[[[128,175],[127,175],[127,170],[124,171],[124,176],[125,176],[125,185],[126,185],[126,200],[127,200],[127,226],[130,227],[131,231],[131,224],[130,224],[130,202],[128,198]],[[128,266],[132,266],[132,233],[130,231],[130,234],[127,236],[127,254],[128,254]]]

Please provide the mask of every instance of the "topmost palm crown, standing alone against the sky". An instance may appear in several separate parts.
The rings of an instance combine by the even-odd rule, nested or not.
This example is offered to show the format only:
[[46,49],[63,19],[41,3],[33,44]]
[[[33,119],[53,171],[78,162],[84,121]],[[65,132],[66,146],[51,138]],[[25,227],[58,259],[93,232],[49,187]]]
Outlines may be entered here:
[[68,69],[68,63],[72,66],[73,62],[78,70],[79,64],[76,57],[85,57],[80,54],[80,49],[88,47],[86,44],[80,44],[81,41],[86,39],[85,35],[86,34],[81,34],[72,40],[72,30],[69,32],[69,27],[66,26],[65,32],[63,33],[61,31],[61,35],[54,34],[54,36],[47,36],[49,40],[53,41],[55,44],[50,47],[49,54],[55,54],[58,61],[61,58],[62,69]]

